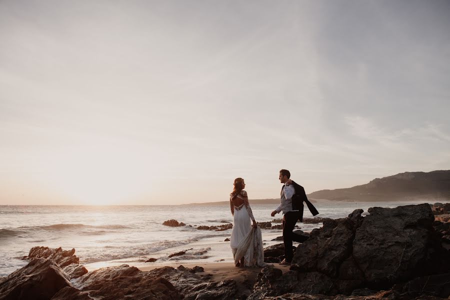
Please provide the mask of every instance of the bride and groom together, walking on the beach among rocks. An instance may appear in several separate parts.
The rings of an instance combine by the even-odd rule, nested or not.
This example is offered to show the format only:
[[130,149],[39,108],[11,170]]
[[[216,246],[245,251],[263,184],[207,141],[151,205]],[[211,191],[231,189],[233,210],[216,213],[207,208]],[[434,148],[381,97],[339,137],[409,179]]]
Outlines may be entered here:
[[[285,169],[279,171],[281,188],[281,203],[271,212],[271,216],[282,211],[284,259],[281,264],[292,261],[292,240],[303,242],[307,239],[292,232],[297,220],[303,220],[303,202],[306,203],[312,215],[318,214],[317,209],[308,201],[304,188],[290,179],[290,172]],[[263,266],[264,252],[262,248],[261,229],[258,227],[248,203],[245,182],[242,178],[234,179],[234,188],[229,195],[231,214],[233,215],[233,229],[231,231],[230,246],[236,266]],[[245,207],[245,211],[242,209]],[[250,219],[252,225],[250,225]]]

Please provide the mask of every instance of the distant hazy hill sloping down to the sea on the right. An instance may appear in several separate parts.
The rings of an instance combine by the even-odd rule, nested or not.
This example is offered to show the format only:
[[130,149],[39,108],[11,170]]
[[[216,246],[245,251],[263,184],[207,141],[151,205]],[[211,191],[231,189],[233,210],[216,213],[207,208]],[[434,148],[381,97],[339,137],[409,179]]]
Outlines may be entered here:
[[308,198],[346,201],[448,200],[450,170],[404,172],[349,188],[322,189]]

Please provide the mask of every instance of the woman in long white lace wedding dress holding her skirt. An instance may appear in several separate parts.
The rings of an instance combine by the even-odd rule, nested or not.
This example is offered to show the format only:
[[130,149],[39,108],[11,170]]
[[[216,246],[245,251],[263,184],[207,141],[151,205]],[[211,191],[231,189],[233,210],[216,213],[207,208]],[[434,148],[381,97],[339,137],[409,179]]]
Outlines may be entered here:
[[[234,179],[234,188],[229,195],[233,229],[230,246],[236,266],[264,266],[261,229],[254,220],[248,203],[245,182],[242,178]],[[243,209],[245,208],[245,209]],[[250,219],[253,225],[250,224]]]

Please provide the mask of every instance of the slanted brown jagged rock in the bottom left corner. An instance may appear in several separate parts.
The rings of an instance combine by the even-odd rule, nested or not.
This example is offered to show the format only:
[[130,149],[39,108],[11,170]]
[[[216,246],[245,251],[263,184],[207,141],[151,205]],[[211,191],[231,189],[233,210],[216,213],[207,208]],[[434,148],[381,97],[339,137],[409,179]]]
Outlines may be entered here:
[[69,277],[53,260],[32,258],[27,265],[0,278],[0,299],[47,300],[70,285]]

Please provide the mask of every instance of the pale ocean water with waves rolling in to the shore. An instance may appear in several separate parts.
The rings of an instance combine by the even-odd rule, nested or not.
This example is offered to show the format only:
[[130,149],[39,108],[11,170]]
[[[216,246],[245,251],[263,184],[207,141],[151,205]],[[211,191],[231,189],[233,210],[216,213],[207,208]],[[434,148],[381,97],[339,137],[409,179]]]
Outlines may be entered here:
[[[354,209],[396,207],[414,202],[334,202],[314,203],[317,217],[345,217]],[[251,200],[250,200],[251,205]],[[258,222],[281,218],[270,212],[276,204],[251,205]],[[307,207],[304,217],[312,217]],[[186,226],[162,225],[176,219]],[[225,231],[200,230],[199,225],[220,225],[232,222],[229,205],[0,205],[0,276],[5,276],[27,262],[20,258],[33,246],[75,248],[80,263],[88,270],[118,265],[166,265],[183,263],[231,262]],[[272,223],[276,225],[279,223]],[[188,225],[191,225],[188,226]],[[297,223],[303,231],[321,227],[321,223]],[[281,236],[281,229],[262,229],[262,238],[269,246]],[[186,254],[168,258],[174,252]],[[157,258],[155,262],[145,262]]]

